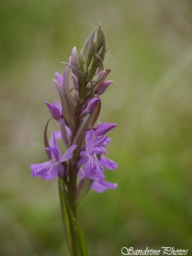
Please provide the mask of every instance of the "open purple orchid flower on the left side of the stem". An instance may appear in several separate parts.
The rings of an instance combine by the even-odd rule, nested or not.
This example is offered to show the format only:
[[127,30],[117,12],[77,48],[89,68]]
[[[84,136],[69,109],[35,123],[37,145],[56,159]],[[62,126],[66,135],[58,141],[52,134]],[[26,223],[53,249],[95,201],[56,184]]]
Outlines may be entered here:
[[63,156],[61,155],[61,150],[57,143],[57,137],[61,137],[61,134],[51,132],[50,147],[45,148],[49,151],[50,158],[48,162],[43,162],[41,164],[31,164],[30,168],[32,170],[32,177],[40,177],[44,180],[51,180],[58,176],[58,173],[64,174],[65,170],[61,162],[65,162],[73,157],[73,151],[77,148],[77,145],[71,146]]

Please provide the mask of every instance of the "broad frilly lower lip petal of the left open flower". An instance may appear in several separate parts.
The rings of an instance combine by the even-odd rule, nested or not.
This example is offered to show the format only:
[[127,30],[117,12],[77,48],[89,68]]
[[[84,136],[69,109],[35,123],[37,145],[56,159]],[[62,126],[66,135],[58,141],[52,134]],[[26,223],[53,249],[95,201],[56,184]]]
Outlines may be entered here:
[[52,180],[58,175],[58,170],[52,161],[43,162],[42,164],[31,164],[32,177],[40,177],[44,180]]

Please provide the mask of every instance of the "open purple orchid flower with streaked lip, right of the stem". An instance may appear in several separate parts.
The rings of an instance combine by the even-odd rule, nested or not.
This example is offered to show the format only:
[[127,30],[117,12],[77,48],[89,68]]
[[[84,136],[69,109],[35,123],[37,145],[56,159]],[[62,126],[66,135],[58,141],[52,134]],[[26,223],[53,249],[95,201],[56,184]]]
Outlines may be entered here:
[[[77,163],[77,168],[80,168],[82,164],[84,165],[84,174],[89,179],[94,181],[104,181],[104,167],[109,170],[115,170],[117,168],[117,164],[104,156],[100,156],[100,160],[98,160],[97,154],[106,154],[106,150],[104,148],[104,142],[108,139],[108,137],[96,136],[93,129],[86,135],[86,150],[82,150],[80,152],[80,158]],[[100,146],[102,145],[102,146]]]

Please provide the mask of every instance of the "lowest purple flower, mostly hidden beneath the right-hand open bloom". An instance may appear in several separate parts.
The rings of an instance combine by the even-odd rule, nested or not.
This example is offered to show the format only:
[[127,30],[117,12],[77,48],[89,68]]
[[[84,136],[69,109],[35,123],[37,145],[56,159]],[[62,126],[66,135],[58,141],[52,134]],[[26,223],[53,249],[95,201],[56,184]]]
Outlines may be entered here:
[[[79,169],[78,177],[80,178],[79,184],[81,184],[81,182],[86,178],[82,168]],[[94,181],[91,189],[98,193],[102,193],[107,189],[117,189],[117,183],[110,183],[108,181]]]

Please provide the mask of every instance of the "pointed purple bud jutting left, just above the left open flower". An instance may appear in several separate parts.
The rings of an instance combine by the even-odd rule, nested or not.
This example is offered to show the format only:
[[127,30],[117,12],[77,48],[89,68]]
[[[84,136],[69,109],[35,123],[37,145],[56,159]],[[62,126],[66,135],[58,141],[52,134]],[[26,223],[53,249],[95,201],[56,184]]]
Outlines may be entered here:
[[49,112],[51,113],[51,116],[61,125],[65,125],[65,121],[63,119],[63,113],[62,113],[62,107],[59,101],[55,100],[55,105],[50,104],[49,102],[45,102],[46,106],[49,108]]

